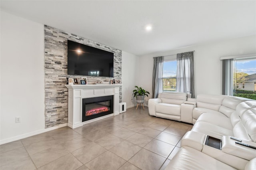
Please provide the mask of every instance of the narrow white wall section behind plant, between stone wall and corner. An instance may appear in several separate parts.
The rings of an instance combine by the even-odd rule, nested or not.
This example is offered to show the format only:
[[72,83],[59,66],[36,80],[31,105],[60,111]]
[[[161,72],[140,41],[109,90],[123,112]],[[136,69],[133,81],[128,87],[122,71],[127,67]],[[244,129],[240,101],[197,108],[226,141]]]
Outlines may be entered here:
[[132,91],[138,85],[138,61],[138,56],[122,51],[122,102],[126,102],[127,108],[136,103]]

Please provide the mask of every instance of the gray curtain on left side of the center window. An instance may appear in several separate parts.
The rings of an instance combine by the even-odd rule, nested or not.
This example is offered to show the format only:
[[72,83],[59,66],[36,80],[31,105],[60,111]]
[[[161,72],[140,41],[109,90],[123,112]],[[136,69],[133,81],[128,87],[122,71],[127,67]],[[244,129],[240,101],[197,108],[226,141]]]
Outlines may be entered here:
[[158,94],[163,91],[163,63],[164,57],[154,57],[152,98],[157,98]]

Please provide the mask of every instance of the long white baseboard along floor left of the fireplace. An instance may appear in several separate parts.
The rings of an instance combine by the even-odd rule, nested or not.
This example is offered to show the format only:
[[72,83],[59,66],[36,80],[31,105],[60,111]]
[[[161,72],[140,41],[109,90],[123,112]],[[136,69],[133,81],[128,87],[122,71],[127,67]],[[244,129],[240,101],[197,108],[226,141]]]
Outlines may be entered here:
[[10,138],[6,138],[6,139],[3,139],[3,140],[0,140],[0,144],[5,144],[5,143],[8,143],[8,142],[13,142],[15,140],[20,140],[20,139],[23,139],[23,138],[34,136],[36,134],[48,132],[48,131],[51,131],[51,130],[54,130],[54,129],[57,129],[57,128],[66,127],[67,124],[68,123],[63,123],[63,124],[60,124],[60,125],[55,126],[55,127],[44,128],[44,129],[41,129],[41,130],[36,130],[34,132],[28,132],[28,133],[20,134],[20,135],[13,136],[13,137],[10,137]]

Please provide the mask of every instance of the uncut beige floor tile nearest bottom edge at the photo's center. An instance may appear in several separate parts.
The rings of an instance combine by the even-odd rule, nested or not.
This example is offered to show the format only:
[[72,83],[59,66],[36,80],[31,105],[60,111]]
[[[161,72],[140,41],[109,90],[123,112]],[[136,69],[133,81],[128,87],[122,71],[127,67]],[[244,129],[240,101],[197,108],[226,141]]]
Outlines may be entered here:
[[123,141],[110,149],[111,152],[117,154],[124,160],[129,160],[132,158],[132,156],[134,156],[139,150],[141,150],[140,146],[132,144],[128,141]]

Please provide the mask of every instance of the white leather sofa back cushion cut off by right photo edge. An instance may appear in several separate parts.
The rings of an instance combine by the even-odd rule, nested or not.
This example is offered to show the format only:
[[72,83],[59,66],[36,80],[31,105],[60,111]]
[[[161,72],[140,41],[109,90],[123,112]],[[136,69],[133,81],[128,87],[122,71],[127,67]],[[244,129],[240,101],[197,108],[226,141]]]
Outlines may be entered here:
[[249,136],[256,142],[256,108],[244,112],[241,120]]

